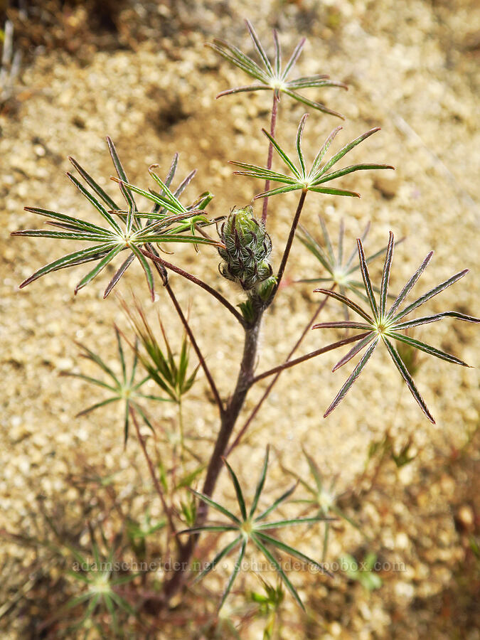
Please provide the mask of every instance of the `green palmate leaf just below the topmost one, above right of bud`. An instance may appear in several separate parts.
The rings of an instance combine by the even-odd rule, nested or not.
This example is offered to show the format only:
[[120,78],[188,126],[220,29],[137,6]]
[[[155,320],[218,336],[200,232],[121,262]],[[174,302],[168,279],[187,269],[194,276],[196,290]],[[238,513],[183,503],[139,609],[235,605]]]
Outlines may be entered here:
[[292,172],[293,176],[289,176],[288,174],[282,174],[279,171],[271,171],[270,169],[265,169],[260,166],[255,166],[252,164],[247,164],[245,162],[238,162],[230,160],[230,164],[240,167],[241,171],[234,171],[234,174],[240,174],[242,176],[250,176],[252,178],[259,178],[262,180],[269,180],[272,182],[283,183],[285,186],[276,187],[269,189],[268,191],[264,191],[263,193],[257,194],[255,199],[257,198],[267,198],[270,196],[276,196],[279,193],[287,193],[289,191],[314,191],[316,193],[327,193],[334,196],[353,196],[355,198],[360,198],[360,194],[355,191],[348,191],[346,189],[338,189],[333,187],[323,186],[324,183],[329,182],[331,180],[335,180],[336,178],[340,178],[341,176],[346,176],[347,174],[351,174],[354,171],[365,171],[369,169],[394,169],[393,166],[388,164],[353,164],[351,166],[346,167],[345,169],[340,169],[338,171],[333,171],[328,173],[329,169],[331,169],[336,162],[341,160],[343,156],[348,154],[348,151],[351,151],[358,144],[366,140],[368,137],[373,135],[375,132],[380,131],[379,127],[375,127],[374,129],[370,129],[370,131],[365,134],[359,136],[352,142],[346,144],[337,154],[335,154],[329,161],[325,164],[322,164],[324,155],[326,151],[329,149],[329,146],[338,133],[341,127],[337,127],[333,132],[329,135],[324,142],[323,146],[319,150],[319,153],[316,155],[314,162],[311,166],[310,171],[307,173],[305,168],[305,161],[302,152],[302,134],[305,127],[305,121],[308,114],[304,114],[302,119],[300,120],[300,124],[297,131],[297,139],[296,139],[296,149],[297,149],[297,159],[298,166],[292,161],[292,159],[287,155],[287,153],[282,149],[282,147],[278,144],[277,140],[272,137],[272,135],[267,132],[265,129],[262,129],[262,132],[269,139],[270,144],[272,144],[273,149],[277,151],[282,162],[287,166],[287,169]]

